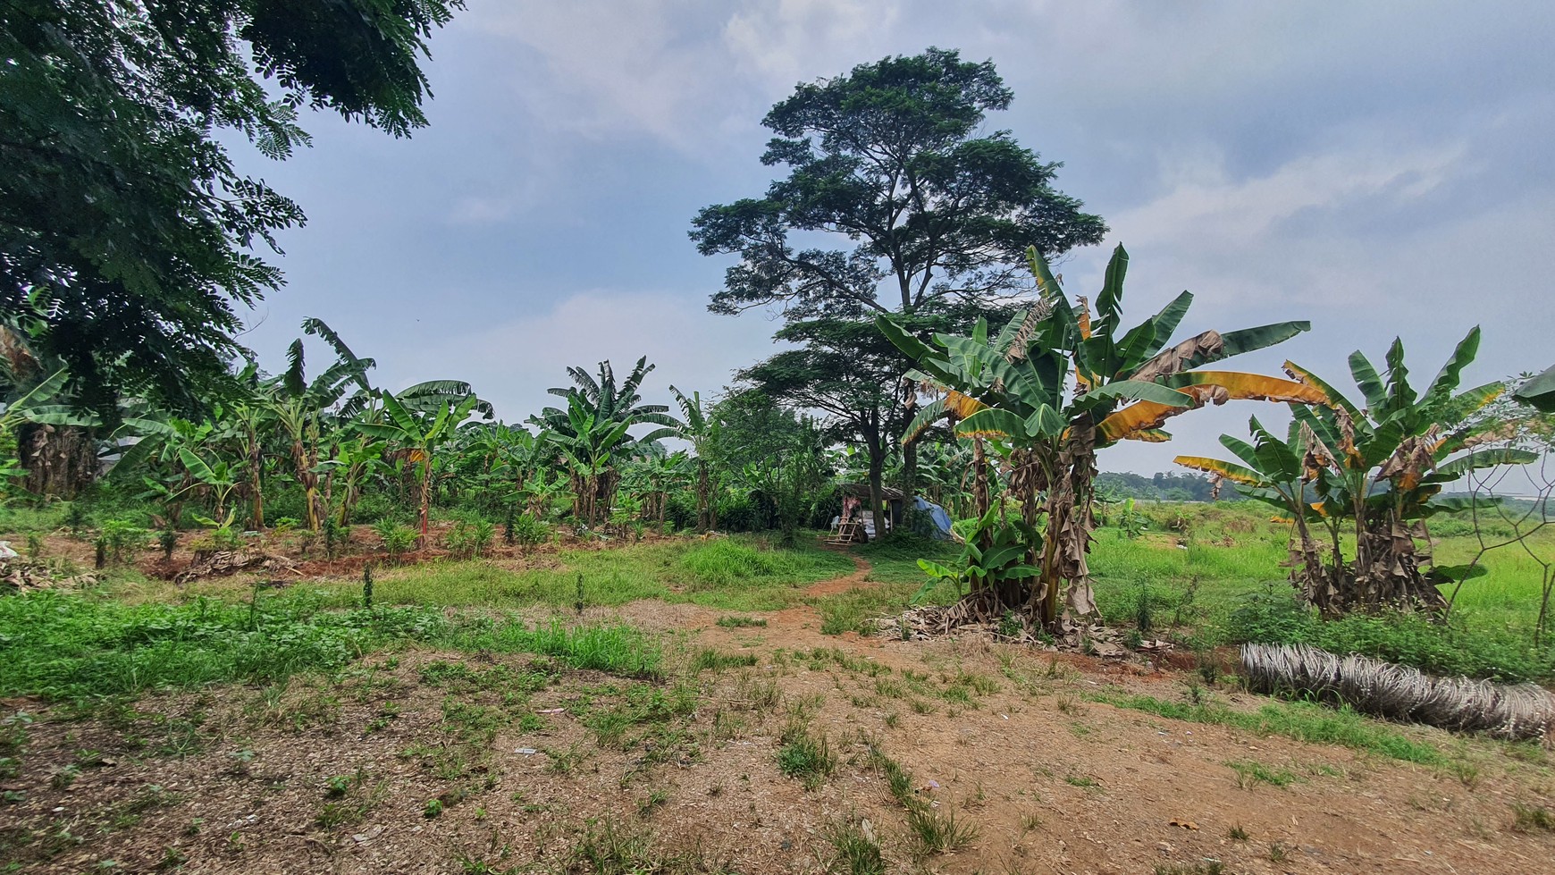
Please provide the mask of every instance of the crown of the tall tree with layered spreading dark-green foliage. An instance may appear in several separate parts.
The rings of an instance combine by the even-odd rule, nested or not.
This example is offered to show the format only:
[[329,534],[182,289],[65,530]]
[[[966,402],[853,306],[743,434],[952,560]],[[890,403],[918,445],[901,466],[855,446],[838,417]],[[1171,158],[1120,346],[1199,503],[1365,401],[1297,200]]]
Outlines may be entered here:
[[[804,343],[819,364],[847,322],[897,312],[924,320],[925,331],[936,319],[953,328],[1025,297],[1026,247],[1054,258],[1099,242],[1107,228],[1053,188],[1057,163],[1009,131],[981,134],[984,115],[1012,98],[992,62],[939,48],[799,85],[762,121],[776,132],[762,163],[788,176],[765,197],[708,207],[692,222],[698,252],[740,256],[709,309],[782,308],[790,328],[812,323],[804,331],[819,339]],[[774,398],[799,401],[801,387],[759,379],[791,373],[778,359],[767,364],[774,367],[748,376]],[[816,382],[847,379],[851,362],[812,368]],[[905,370],[896,359],[894,373],[871,378],[889,384]],[[858,398],[872,404],[875,395]],[[858,406],[841,418],[886,417]],[[879,494],[872,504],[879,511]]]

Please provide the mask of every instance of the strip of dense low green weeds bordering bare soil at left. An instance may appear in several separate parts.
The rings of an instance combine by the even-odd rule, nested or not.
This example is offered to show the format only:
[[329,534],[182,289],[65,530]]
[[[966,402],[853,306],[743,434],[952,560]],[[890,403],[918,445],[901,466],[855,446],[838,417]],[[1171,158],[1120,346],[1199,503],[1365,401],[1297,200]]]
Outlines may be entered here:
[[269,684],[334,671],[403,642],[544,653],[628,676],[661,670],[658,642],[622,625],[530,628],[505,617],[449,619],[417,606],[336,611],[328,603],[327,594],[302,589],[260,594],[252,603],[123,605],[50,591],[0,598],[0,696],[78,699]]

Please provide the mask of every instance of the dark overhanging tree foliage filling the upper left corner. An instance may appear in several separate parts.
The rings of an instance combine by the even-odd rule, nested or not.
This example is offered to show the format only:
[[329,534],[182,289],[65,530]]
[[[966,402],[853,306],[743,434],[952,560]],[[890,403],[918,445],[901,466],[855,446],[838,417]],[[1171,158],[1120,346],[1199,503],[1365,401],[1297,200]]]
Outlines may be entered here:
[[235,166],[285,159],[300,107],[397,137],[426,124],[425,40],[463,0],[8,0],[0,5],[0,317],[112,415],[123,390],[197,407],[238,305],[277,289],[255,249],[300,225]]

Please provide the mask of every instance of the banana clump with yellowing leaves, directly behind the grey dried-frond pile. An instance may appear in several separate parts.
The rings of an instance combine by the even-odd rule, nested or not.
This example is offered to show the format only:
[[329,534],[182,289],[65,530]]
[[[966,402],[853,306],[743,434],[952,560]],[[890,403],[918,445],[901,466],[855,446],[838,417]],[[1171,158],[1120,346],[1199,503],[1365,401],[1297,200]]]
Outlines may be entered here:
[[[1438,584],[1482,569],[1434,566],[1426,521],[1469,507],[1443,497],[1443,486],[1483,468],[1525,465],[1538,452],[1501,444],[1502,423],[1476,417],[1505,385],[1488,382],[1459,392],[1463,368],[1479,351],[1476,326],[1424,389],[1417,392],[1404,365],[1404,345],[1393,340],[1386,376],[1362,353],[1350,356],[1359,406],[1311,370],[1286,362],[1297,381],[1325,401],[1292,406],[1288,438],[1277,440],[1252,423],[1253,443],[1222,435],[1241,463],[1179,457],[1177,462],[1232,480],[1252,497],[1278,504],[1294,518],[1300,563],[1292,572],[1303,598],[1325,615],[1379,606],[1443,609]],[[1328,533],[1328,549],[1308,544],[1308,524]],[[1345,561],[1344,535],[1354,538]]]

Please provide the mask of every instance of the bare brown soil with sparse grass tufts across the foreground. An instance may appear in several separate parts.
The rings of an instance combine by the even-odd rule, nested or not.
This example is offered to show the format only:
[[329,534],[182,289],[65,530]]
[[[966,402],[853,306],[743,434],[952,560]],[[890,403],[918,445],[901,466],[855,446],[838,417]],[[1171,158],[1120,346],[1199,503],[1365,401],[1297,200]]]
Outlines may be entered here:
[[[846,872],[844,831],[891,872],[1555,870],[1555,835],[1513,824],[1555,794],[1536,748],[1400,727],[1454,757],[1427,768],[1090,698],[1267,701],[1171,665],[823,636],[813,608],[619,615],[689,634],[686,665],[406,651],[82,720],[5,702],[37,721],[0,771],[0,870]],[[704,648],[726,659],[697,671]],[[823,740],[830,769],[796,768]]]

